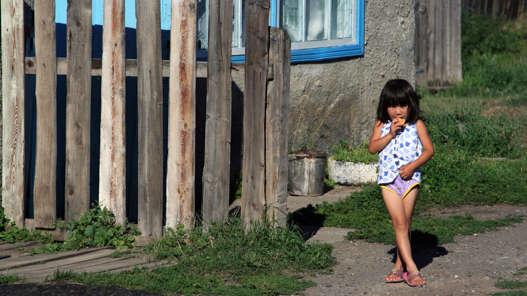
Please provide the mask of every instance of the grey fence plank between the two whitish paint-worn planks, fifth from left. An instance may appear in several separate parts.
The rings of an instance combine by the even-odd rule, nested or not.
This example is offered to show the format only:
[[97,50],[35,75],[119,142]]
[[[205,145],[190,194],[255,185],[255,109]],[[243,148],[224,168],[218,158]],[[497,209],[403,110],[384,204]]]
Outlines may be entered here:
[[159,0],[136,0],[138,91],[138,225],[146,236],[163,226],[163,80]]

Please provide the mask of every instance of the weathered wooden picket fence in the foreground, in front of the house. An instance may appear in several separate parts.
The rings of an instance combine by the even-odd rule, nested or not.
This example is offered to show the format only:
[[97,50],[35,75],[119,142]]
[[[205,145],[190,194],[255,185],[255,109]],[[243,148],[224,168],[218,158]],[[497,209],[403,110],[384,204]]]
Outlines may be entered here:
[[[35,0],[35,57],[24,54],[22,0],[2,0],[2,205],[24,224],[25,74],[36,75],[34,223],[56,219],[57,75],[66,75],[65,218],[90,207],[92,76],[101,76],[99,202],[126,215],[126,76],[138,81],[138,226],[162,235],[163,224],[194,223],[196,77],[207,77],[202,219],[228,215],[231,78],[245,78],[242,215],[247,226],[266,213],[285,226],[290,39],[268,27],[269,0],[247,1],[246,63],[231,63],[232,5],[210,2],[208,62],[196,62],[196,0],[172,1],[170,60],[161,58],[160,1],[135,0],[137,59],[125,59],[124,0],[104,1],[103,56],[91,56],[91,0],[69,2],[67,57],[55,54],[55,1]],[[154,21],[155,20],[155,21]],[[250,33],[249,33],[250,32]],[[163,87],[169,77],[166,216],[163,218]],[[93,180],[92,180],[93,181]],[[165,219],[165,223],[163,223]],[[33,224],[32,223],[32,224]]]

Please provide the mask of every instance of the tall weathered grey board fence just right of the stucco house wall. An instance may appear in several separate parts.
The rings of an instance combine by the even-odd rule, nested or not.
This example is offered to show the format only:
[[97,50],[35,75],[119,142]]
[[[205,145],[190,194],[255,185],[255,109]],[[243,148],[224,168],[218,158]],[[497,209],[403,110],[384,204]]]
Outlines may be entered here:
[[461,0],[415,0],[414,50],[417,86],[461,81]]

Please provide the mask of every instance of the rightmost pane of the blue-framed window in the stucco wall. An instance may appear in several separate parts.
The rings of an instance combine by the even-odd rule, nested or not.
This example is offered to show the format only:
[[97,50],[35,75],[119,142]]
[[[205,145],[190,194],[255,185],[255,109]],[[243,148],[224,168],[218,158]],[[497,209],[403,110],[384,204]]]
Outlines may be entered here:
[[353,37],[352,4],[352,0],[331,0],[331,39]]

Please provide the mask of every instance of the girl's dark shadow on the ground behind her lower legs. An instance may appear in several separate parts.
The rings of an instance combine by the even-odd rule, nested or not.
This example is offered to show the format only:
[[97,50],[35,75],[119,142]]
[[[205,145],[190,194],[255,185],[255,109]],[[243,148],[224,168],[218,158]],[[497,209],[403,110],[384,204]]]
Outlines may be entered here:
[[[418,230],[412,231],[412,257],[417,269],[422,269],[426,265],[432,263],[434,258],[438,258],[448,254],[448,251],[443,247],[437,245],[437,236],[421,232]],[[394,255],[392,263],[395,263],[397,249],[394,247],[388,251],[388,254]]]

